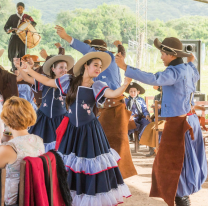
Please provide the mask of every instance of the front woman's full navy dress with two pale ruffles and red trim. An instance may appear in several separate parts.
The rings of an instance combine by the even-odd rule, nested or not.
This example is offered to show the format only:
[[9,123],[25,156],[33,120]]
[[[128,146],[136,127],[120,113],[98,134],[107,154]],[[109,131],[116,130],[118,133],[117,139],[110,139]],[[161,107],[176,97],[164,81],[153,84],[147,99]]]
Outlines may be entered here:
[[[62,95],[70,87],[70,75],[56,80]],[[101,124],[93,113],[95,103],[105,101],[105,82],[91,88],[79,86],[76,100],[69,107],[69,123],[58,151],[68,171],[68,184],[74,206],[114,206],[131,196],[117,162],[118,153],[110,148]],[[56,142],[50,144],[55,147]]]

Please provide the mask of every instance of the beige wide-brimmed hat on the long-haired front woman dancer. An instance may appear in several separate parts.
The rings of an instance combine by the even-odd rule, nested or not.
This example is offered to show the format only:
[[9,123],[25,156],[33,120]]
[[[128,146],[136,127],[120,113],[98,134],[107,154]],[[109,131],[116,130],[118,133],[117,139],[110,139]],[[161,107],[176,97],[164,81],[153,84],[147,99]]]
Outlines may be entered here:
[[77,77],[80,75],[80,70],[82,66],[90,59],[100,59],[102,61],[102,69],[101,72],[103,72],[105,69],[109,67],[111,64],[111,56],[106,52],[89,52],[85,54],[81,59],[77,61],[77,63],[74,65],[73,71],[74,76]]

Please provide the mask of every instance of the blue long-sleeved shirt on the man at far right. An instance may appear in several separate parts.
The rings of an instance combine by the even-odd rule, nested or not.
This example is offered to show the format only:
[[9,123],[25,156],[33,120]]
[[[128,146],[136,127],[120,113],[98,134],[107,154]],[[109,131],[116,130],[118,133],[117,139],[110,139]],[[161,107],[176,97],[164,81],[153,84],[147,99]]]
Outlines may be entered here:
[[145,84],[162,86],[162,117],[176,117],[191,110],[191,93],[196,90],[195,84],[199,80],[199,72],[193,63],[168,66],[156,74],[127,66],[125,75]]

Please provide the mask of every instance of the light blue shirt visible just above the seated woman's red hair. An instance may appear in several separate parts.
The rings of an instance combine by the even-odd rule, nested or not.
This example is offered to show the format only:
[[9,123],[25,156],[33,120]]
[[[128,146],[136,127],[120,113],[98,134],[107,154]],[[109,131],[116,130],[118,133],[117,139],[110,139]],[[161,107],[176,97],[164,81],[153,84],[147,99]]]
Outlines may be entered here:
[[34,94],[32,92],[32,89],[30,88],[30,86],[27,84],[18,84],[17,87],[18,87],[19,97],[30,102],[32,104],[34,110],[37,111],[38,108],[37,108],[35,102],[33,101]]

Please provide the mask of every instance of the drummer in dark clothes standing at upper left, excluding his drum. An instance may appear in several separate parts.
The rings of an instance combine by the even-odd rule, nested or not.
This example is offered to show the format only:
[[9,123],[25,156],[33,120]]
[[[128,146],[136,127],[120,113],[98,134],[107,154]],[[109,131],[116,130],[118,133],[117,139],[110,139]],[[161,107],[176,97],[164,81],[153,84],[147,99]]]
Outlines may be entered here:
[[17,30],[18,26],[21,23],[28,21],[30,21],[30,23],[33,26],[36,26],[36,23],[34,22],[33,18],[27,14],[24,14],[24,10],[25,10],[24,3],[19,2],[17,4],[17,13],[11,15],[4,26],[4,30],[7,34],[12,33],[8,46],[8,58],[12,63],[13,70],[15,70],[15,66],[13,64],[13,58],[14,57],[21,58],[25,55],[25,44],[16,34],[15,30]]

